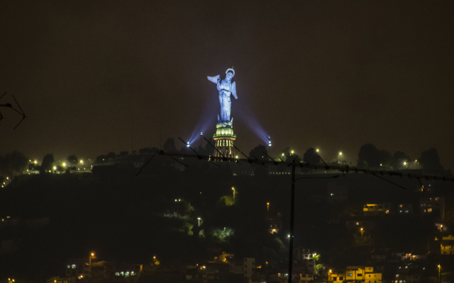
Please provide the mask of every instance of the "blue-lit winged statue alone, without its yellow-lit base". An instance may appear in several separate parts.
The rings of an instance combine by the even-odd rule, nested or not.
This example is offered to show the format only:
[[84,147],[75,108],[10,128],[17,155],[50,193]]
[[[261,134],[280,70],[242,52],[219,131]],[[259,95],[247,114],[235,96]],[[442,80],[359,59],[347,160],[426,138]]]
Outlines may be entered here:
[[218,116],[218,122],[233,122],[230,120],[232,104],[230,96],[233,95],[235,99],[238,99],[238,97],[236,96],[236,83],[232,83],[233,76],[235,76],[235,71],[232,67],[227,69],[226,79],[221,80],[220,75],[208,77],[209,81],[216,83],[219,92],[219,103],[221,103],[221,119],[219,119]]

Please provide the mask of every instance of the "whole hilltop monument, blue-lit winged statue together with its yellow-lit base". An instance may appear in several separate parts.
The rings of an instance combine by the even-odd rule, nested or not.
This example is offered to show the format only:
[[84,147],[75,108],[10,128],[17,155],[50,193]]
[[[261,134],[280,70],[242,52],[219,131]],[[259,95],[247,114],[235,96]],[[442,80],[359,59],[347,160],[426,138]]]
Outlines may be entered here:
[[[231,114],[231,96],[238,99],[236,96],[236,83],[232,82],[235,76],[233,68],[227,69],[226,79],[221,80],[220,76],[209,76],[209,81],[216,83],[219,93],[219,103],[221,104],[221,115],[218,115],[216,123],[216,134],[213,138],[216,149],[214,156],[235,158],[235,147],[233,146],[236,135],[233,134],[233,118]],[[221,154],[219,154],[221,152]]]

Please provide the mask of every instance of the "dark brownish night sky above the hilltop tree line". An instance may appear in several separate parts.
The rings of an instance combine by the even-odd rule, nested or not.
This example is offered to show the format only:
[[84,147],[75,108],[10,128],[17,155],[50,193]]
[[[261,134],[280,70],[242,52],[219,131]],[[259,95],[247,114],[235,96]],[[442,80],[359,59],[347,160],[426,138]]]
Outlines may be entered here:
[[[0,1],[0,154],[94,158],[199,144],[215,132],[206,76],[234,67],[236,145],[360,146],[454,168],[452,1]],[[133,126],[133,127],[132,127]],[[161,133],[161,134],[160,134]],[[183,146],[176,140],[177,146]]]

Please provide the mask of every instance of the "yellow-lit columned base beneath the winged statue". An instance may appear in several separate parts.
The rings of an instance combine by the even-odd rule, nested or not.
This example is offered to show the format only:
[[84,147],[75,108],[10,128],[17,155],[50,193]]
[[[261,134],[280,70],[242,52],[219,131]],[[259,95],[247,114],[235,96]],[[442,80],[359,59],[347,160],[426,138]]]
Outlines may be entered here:
[[[236,135],[233,134],[232,127],[232,121],[219,121],[216,125],[216,134],[214,134],[213,138],[215,143],[214,146],[216,146],[217,151],[214,151],[214,156],[235,158],[235,147],[233,147],[233,144],[236,140]],[[223,156],[221,156],[218,151],[220,151]]]

